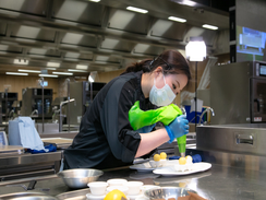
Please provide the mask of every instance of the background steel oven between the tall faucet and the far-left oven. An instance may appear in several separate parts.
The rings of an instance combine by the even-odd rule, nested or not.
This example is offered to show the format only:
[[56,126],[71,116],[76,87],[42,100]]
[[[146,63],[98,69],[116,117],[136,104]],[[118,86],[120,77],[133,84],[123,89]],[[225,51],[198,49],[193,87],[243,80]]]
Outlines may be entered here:
[[[52,89],[44,89],[44,115],[46,119],[51,119],[52,109]],[[41,89],[24,89],[22,91],[22,110],[23,116],[31,116],[35,119],[43,117],[43,92]],[[35,115],[33,116],[33,113]]]

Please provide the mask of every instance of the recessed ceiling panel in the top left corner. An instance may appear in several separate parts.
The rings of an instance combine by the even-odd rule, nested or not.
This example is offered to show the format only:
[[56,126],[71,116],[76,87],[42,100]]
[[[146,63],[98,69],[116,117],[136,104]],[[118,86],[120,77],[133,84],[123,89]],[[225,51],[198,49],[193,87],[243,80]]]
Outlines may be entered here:
[[48,0],[1,0],[0,9],[34,15],[45,15],[47,1]]

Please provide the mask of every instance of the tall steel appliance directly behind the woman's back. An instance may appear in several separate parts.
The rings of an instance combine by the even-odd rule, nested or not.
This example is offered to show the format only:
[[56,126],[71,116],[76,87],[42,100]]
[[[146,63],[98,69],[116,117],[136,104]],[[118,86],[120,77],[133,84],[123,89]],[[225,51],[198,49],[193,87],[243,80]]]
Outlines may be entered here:
[[70,125],[81,123],[82,116],[105,85],[106,83],[100,82],[70,82],[70,98],[75,99],[73,104],[69,105],[71,110]]

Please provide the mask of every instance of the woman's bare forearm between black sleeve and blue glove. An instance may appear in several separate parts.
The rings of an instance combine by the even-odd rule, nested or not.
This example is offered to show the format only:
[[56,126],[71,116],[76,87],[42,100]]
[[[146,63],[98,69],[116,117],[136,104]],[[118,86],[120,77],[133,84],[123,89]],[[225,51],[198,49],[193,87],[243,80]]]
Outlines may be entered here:
[[155,148],[169,141],[168,133],[165,128],[158,129],[150,133],[141,133],[141,143],[138,145],[135,157],[140,157],[149,153]]

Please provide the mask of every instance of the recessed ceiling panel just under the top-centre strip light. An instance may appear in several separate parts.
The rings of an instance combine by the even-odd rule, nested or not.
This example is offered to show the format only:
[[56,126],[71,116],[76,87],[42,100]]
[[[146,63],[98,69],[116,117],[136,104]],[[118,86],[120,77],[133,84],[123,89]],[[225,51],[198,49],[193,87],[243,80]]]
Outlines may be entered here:
[[111,9],[109,14],[109,28],[125,32],[147,34],[150,16],[131,11]]

